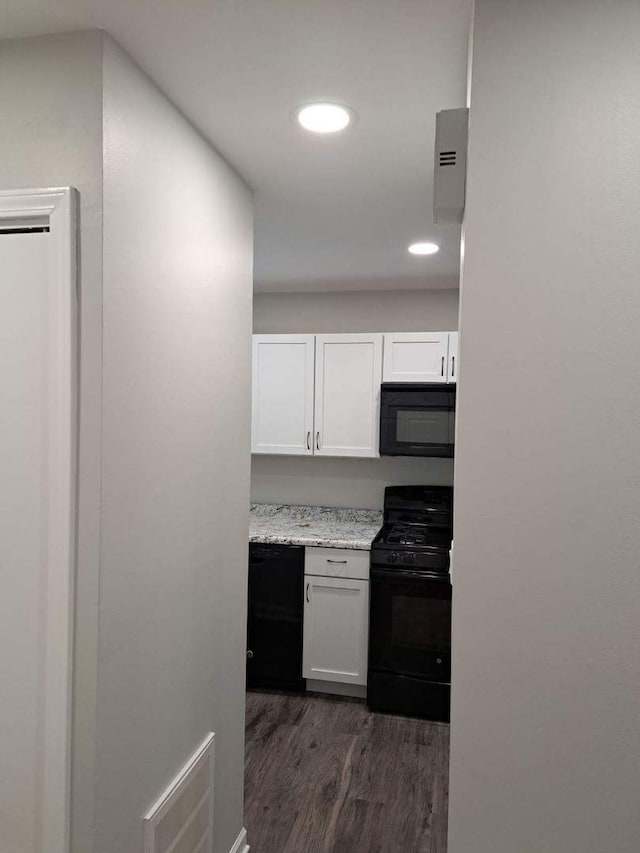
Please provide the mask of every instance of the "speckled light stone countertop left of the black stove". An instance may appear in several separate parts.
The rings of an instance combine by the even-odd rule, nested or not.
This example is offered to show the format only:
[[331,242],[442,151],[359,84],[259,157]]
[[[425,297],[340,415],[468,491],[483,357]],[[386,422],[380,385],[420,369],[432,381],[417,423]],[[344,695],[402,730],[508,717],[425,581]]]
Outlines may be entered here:
[[368,551],[381,527],[377,510],[252,504],[249,542]]

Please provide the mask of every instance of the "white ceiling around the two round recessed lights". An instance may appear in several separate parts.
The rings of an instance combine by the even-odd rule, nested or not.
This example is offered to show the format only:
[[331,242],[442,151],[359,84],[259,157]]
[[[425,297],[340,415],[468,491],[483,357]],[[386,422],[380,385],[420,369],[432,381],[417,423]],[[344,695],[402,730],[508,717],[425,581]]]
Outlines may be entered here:
[[[433,225],[434,116],[465,105],[472,0],[2,0],[0,36],[99,27],[256,193],[256,287],[456,287]],[[353,107],[334,137],[292,120]],[[440,243],[416,258],[407,245]]]

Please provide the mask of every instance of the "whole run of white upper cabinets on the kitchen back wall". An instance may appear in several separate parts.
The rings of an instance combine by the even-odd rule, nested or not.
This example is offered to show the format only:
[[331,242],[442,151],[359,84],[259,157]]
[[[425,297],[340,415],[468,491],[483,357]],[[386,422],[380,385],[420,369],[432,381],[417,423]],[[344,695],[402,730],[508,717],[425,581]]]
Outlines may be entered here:
[[457,332],[254,335],[251,451],[379,456],[380,384],[458,369]]

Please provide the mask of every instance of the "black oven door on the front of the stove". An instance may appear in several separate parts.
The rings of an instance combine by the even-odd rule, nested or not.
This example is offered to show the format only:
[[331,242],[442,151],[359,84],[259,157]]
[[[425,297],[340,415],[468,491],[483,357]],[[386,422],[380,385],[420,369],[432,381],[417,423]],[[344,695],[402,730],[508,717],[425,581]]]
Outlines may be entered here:
[[451,586],[447,581],[371,575],[369,666],[448,681]]

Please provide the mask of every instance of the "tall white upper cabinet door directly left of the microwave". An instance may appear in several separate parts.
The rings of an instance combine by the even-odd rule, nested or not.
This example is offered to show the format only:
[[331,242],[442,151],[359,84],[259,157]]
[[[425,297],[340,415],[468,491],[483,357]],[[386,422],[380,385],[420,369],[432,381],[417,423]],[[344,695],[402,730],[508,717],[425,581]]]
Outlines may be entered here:
[[316,456],[378,456],[382,335],[316,337]]

